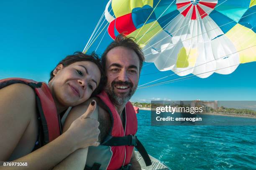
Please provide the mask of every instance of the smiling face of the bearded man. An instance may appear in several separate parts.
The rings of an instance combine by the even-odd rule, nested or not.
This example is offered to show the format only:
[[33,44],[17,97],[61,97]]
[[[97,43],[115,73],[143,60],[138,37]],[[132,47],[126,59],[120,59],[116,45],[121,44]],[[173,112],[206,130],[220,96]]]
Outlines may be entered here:
[[107,54],[105,91],[114,104],[125,105],[138,86],[139,58],[135,51],[122,46],[111,49]]

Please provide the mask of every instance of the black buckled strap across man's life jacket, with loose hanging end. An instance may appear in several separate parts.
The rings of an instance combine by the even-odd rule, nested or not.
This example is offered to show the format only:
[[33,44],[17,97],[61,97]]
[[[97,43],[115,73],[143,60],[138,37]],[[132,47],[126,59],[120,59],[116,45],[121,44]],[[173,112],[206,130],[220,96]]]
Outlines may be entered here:
[[141,142],[137,139],[136,135],[128,135],[125,137],[112,137],[110,140],[102,143],[101,145],[105,146],[134,146],[138,152],[140,152],[141,156],[143,157],[144,162],[146,163],[146,166],[152,165],[152,162],[148,156],[148,152],[143,147]]

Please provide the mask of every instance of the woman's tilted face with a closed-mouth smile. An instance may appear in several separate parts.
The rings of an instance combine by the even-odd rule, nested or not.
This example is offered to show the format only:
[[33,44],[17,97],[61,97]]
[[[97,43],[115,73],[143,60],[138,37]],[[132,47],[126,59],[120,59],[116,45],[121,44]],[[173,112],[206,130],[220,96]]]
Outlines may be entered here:
[[49,82],[53,95],[63,106],[76,106],[90,98],[100,83],[100,70],[95,63],[78,61],[54,70]]

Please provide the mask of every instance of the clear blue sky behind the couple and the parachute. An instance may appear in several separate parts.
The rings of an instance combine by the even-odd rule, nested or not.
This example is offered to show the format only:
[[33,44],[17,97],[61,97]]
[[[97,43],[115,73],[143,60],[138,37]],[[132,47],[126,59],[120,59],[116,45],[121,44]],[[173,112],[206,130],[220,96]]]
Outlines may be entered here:
[[[84,49],[107,2],[0,1],[0,79],[23,77],[47,81],[50,71],[62,58]],[[90,51],[96,49],[99,41],[95,41]],[[101,54],[111,41],[106,34],[96,52]],[[172,71],[159,72],[154,64],[144,65],[139,84],[172,74]],[[155,72],[159,73],[150,74]],[[206,79],[138,89],[131,101],[256,100],[255,74],[256,62],[245,63],[229,75],[213,74]]]

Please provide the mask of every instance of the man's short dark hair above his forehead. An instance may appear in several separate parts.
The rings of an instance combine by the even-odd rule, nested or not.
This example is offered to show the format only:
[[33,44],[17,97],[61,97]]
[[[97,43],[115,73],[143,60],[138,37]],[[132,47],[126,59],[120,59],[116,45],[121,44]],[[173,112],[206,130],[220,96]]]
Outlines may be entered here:
[[[134,39],[134,40],[133,40]],[[110,43],[108,45],[108,47],[106,48],[106,50],[104,51],[104,53],[101,56],[101,62],[102,62],[102,66],[103,66],[103,70],[106,71],[106,60],[107,60],[107,54],[110,50],[112,50],[115,47],[126,47],[129,48],[131,50],[133,50],[139,58],[140,61],[140,68],[139,68],[139,74],[141,73],[141,68],[142,68],[142,64],[143,61],[145,61],[144,58],[144,54],[140,48],[140,46],[138,46],[138,44],[136,44],[135,42],[135,38],[128,38],[123,36],[122,34],[119,34],[116,38],[115,41],[113,41],[112,43]]]

